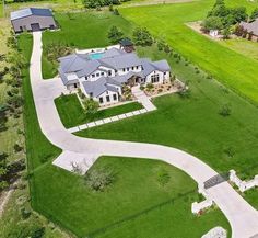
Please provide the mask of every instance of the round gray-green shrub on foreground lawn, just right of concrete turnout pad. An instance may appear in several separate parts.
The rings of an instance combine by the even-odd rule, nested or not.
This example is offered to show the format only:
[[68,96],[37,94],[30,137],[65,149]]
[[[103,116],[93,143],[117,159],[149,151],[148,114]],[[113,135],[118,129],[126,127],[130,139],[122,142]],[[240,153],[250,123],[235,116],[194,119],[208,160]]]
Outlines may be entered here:
[[115,173],[108,168],[93,169],[86,172],[85,183],[94,191],[104,191],[115,181]]

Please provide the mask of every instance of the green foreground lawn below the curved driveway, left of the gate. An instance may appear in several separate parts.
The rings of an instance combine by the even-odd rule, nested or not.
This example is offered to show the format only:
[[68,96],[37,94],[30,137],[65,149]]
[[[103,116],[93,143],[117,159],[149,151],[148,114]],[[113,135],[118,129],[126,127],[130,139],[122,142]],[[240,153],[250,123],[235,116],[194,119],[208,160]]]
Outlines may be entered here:
[[[33,192],[36,211],[79,237],[168,238],[177,234],[181,238],[199,238],[218,225],[231,229],[219,209],[201,217],[191,214],[191,203],[198,200],[196,183],[167,163],[103,157],[91,170],[98,168],[112,168],[116,174],[115,182],[104,192],[93,192],[82,177],[51,165],[37,170]],[[164,186],[157,181],[160,171],[169,174]],[[162,205],[164,202],[169,203]]]

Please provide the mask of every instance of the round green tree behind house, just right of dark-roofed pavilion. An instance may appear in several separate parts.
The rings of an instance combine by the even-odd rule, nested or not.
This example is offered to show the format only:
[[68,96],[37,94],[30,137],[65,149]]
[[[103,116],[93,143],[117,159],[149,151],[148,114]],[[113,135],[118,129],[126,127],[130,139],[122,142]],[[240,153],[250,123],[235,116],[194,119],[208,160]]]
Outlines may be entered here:
[[140,46],[151,46],[153,38],[145,27],[137,27],[132,33],[133,42]]

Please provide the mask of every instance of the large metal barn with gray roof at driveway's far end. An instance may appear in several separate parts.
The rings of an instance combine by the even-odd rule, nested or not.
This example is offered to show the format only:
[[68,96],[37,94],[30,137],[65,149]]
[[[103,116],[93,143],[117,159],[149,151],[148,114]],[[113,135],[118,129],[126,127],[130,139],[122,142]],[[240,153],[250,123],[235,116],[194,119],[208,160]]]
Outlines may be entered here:
[[15,33],[57,27],[50,9],[27,8],[11,12],[11,23]]

